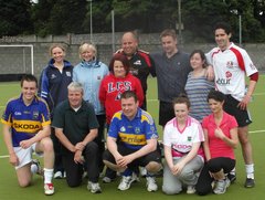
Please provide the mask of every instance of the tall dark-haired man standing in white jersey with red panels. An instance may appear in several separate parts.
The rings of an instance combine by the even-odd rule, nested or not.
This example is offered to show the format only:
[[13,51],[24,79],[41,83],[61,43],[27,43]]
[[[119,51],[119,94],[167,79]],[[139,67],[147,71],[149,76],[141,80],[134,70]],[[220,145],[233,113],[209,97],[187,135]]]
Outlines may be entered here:
[[[247,105],[251,102],[257,80],[258,71],[245,50],[230,41],[231,27],[218,23],[214,28],[218,48],[212,49],[206,59],[213,66],[216,90],[226,95],[224,109],[233,115],[239,124],[239,138],[245,161],[246,188],[253,188],[254,162],[252,145],[248,140],[248,125],[252,123]],[[245,75],[250,77],[248,90],[245,92]],[[231,175],[234,177],[235,175]]]

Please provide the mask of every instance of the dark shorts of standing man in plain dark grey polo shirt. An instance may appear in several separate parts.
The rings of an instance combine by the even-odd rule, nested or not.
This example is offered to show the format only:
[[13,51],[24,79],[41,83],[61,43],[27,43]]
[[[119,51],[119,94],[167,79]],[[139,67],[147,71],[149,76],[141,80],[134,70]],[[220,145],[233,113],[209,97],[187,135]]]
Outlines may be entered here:
[[172,103],[159,101],[159,125],[165,127],[172,118],[174,118]]

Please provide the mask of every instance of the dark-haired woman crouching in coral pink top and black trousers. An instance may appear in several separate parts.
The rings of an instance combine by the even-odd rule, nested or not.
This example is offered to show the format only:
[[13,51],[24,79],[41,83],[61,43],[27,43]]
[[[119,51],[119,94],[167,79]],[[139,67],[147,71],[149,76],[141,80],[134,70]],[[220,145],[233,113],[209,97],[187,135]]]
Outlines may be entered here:
[[224,193],[230,186],[226,175],[235,167],[234,148],[239,143],[237,123],[232,115],[223,110],[224,101],[224,94],[219,91],[211,91],[208,95],[212,114],[202,120],[206,162],[195,187],[200,196],[211,191],[218,194]]

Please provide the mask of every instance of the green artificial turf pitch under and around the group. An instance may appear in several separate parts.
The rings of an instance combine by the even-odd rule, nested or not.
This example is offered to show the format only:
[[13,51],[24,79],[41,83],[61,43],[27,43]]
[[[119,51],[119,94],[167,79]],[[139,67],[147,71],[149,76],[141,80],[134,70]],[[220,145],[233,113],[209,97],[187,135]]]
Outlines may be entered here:
[[[265,197],[265,157],[264,157],[264,141],[265,141],[265,76],[261,75],[257,88],[254,94],[254,101],[250,106],[253,118],[253,124],[250,126],[250,138],[253,144],[253,154],[255,160],[255,180],[256,187],[253,189],[245,189],[243,187],[245,181],[245,169],[242,160],[240,145],[236,152],[236,173],[237,179],[224,194],[209,194],[199,197],[197,194],[186,194],[183,191],[177,196],[166,196],[161,192],[162,178],[158,178],[159,190],[157,192],[148,192],[146,190],[146,180],[141,178],[140,182],[132,183],[127,191],[118,191],[117,186],[119,180],[112,183],[102,183],[103,193],[92,194],[86,189],[86,180],[81,187],[68,188],[64,179],[54,180],[55,194],[45,197],[43,193],[43,180],[39,176],[33,177],[32,186],[29,188],[20,188],[17,183],[15,172],[13,167],[9,164],[8,158],[0,158],[0,200],[168,200],[168,199],[206,199],[206,200],[259,200]],[[20,93],[19,82],[0,83],[0,112],[2,114],[6,103],[10,97],[18,96]],[[158,101],[157,101],[157,82],[156,78],[148,80],[148,112],[153,116],[158,123]],[[158,127],[160,139],[162,138],[161,127]],[[0,156],[7,155],[7,149],[2,140],[2,125],[0,125]]]

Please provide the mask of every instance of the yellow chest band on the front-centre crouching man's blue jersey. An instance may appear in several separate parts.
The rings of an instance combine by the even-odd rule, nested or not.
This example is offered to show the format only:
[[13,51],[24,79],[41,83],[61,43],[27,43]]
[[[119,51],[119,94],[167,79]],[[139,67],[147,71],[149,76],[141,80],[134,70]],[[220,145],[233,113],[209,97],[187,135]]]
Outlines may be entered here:
[[146,136],[142,135],[135,135],[135,134],[128,134],[128,133],[120,133],[119,131],[119,138],[123,143],[129,144],[129,145],[146,145]]

